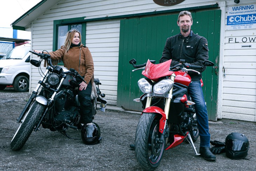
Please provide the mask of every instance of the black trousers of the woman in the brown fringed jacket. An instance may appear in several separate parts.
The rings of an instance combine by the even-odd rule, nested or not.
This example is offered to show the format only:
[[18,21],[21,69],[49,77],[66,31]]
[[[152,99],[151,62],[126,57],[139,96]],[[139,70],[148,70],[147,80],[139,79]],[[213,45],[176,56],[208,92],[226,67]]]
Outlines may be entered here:
[[[76,78],[76,81],[80,84],[82,82],[81,79]],[[93,114],[92,114],[92,102],[91,102],[91,94],[92,94],[92,84],[89,82],[86,89],[79,90],[78,86],[78,99],[81,108],[81,122],[83,124],[92,122]]]

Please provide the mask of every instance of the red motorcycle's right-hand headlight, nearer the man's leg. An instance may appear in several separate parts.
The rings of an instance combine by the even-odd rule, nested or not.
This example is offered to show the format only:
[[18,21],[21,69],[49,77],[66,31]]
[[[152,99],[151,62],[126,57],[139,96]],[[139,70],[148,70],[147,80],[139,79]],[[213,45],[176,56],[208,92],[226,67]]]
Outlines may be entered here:
[[153,91],[156,94],[166,94],[171,88],[173,88],[173,81],[161,80],[155,84]]

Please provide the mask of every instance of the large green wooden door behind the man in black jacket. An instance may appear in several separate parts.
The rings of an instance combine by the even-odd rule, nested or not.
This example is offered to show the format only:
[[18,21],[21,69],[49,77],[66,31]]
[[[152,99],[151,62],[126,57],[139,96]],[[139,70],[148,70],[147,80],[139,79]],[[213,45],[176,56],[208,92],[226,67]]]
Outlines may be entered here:
[[[220,10],[194,12],[192,30],[206,37],[209,46],[209,60],[215,62],[220,49]],[[178,14],[121,20],[119,43],[119,66],[117,84],[117,107],[141,111],[141,103],[134,102],[142,92],[137,81],[142,78],[142,70],[132,72],[129,60],[137,64],[148,59],[159,63],[166,39],[180,33],[177,26]],[[218,59],[218,58],[217,58]],[[217,75],[214,68],[208,67],[203,73],[204,95],[209,120],[216,120],[217,114]]]

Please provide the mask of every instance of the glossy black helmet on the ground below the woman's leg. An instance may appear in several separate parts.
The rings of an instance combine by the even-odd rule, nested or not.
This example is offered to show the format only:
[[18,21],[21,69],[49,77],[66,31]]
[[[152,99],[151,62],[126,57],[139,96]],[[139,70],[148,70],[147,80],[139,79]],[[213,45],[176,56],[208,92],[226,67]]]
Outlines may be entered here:
[[81,129],[81,137],[83,143],[86,145],[93,145],[100,143],[100,127],[94,122],[84,124]]

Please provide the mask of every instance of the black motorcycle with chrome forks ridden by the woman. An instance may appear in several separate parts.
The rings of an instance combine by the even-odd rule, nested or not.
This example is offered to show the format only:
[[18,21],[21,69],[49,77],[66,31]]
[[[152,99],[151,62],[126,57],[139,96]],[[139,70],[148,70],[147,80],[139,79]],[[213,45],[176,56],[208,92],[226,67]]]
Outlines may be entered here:
[[[17,118],[17,122],[21,124],[11,141],[13,150],[20,150],[32,131],[37,131],[40,125],[51,131],[59,131],[67,137],[69,137],[66,134],[68,128],[81,128],[80,113],[82,112],[77,95],[79,85],[76,78],[83,80],[82,76],[75,69],[68,70],[65,67],[53,66],[48,54],[29,52],[40,57],[39,61],[31,60],[32,65],[41,69],[41,62],[46,60],[49,66],[45,73],[39,72],[42,78]],[[95,85],[95,80],[98,87]],[[99,96],[105,96],[99,89],[101,83],[98,79],[95,80],[91,95],[93,118],[96,114],[97,102],[100,102],[103,108],[107,103]]]

